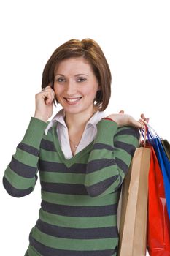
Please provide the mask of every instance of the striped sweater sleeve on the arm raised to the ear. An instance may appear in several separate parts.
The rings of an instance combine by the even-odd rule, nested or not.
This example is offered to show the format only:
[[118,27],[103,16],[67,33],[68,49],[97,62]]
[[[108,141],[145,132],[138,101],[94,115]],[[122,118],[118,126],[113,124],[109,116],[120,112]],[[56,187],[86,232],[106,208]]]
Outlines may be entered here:
[[9,195],[23,197],[34,190],[39,147],[46,127],[47,123],[44,121],[31,118],[26,134],[4,172],[3,184]]

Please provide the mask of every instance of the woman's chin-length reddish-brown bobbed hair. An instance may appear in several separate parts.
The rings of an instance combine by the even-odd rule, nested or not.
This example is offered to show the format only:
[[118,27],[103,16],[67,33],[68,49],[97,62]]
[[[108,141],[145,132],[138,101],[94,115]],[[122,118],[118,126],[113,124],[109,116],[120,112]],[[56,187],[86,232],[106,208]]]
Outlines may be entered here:
[[[59,46],[45,65],[42,73],[42,88],[49,83],[53,84],[55,69],[61,61],[75,57],[83,57],[90,63],[98,85],[101,86],[101,90],[96,93],[94,105],[99,106],[98,110],[104,111],[111,96],[112,76],[103,51],[93,39],[82,39],[82,41],[71,39]],[[56,102],[58,103],[57,99]]]

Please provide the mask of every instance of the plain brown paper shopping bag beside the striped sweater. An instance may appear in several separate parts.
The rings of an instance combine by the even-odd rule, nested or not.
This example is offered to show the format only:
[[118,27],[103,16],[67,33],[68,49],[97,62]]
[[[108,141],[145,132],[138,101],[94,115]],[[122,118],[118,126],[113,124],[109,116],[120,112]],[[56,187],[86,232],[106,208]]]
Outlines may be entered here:
[[119,256],[145,256],[150,148],[136,148],[122,189]]

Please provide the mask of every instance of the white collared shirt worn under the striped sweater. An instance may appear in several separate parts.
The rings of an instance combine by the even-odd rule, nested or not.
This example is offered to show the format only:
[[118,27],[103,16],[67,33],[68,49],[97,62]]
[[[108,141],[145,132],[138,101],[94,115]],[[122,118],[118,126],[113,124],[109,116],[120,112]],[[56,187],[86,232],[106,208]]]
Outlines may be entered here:
[[[53,127],[53,124],[55,123],[55,121],[58,121],[57,134],[58,134],[59,143],[61,145],[61,150],[63,151],[65,158],[70,159],[73,157],[73,155],[72,155],[72,150],[69,144],[69,132],[66,126],[66,122],[64,121],[64,116],[65,116],[65,111],[62,108],[60,111],[58,111],[58,113],[54,116],[54,118],[48,124],[47,128],[45,129],[45,134],[47,135],[47,132],[50,129],[50,127]],[[90,120],[87,122],[85,126],[85,130],[82,134],[82,138],[74,154],[77,154],[78,152],[82,151],[83,148],[88,146],[88,144],[92,140],[94,140],[97,134],[96,124],[98,123],[98,121],[101,120],[101,118],[104,118],[104,117],[106,117],[106,114],[104,113],[104,111],[97,111],[96,113],[94,113],[94,115],[90,118]]]

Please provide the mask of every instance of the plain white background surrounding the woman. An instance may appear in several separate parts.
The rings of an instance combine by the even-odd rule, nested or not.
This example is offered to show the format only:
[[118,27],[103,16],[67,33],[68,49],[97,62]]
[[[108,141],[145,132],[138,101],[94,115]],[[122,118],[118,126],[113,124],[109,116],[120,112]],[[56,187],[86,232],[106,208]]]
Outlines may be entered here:
[[[112,71],[107,113],[150,117],[169,135],[170,2],[121,0],[1,1],[1,179],[34,115],[34,94],[55,48],[69,39],[95,39]],[[59,108],[55,109],[55,112]],[[40,206],[31,195],[10,197],[0,185],[0,255],[23,256]]]

